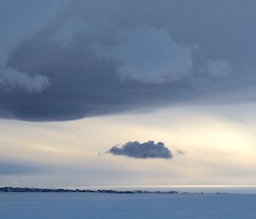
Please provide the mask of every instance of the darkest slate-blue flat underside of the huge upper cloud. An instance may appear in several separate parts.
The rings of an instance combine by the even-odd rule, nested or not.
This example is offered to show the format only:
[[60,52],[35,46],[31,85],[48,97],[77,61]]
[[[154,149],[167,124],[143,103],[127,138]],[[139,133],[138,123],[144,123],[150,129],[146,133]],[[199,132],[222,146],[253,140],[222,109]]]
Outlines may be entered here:
[[[84,45],[84,42],[79,44]],[[32,43],[30,46],[37,45]],[[43,75],[49,83],[39,92],[28,92],[19,86],[3,89],[0,95],[0,116],[3,118],[32,121],[84,118],[185,101],[202,89],[200,86],[196,91],[198,84],[187,81],[187,78],[166,79],[161,83],[122,78],[118,61],[97,57],[86,46],[85,49],[71,50],[54,48],[54,54],[51,54],[51,44],[33,52],[29,49],[21,43],[10,55],[8,67],[28,75]],[[44,56],[51,58],[49,62],[44,63]],[[189,89],[194,90],[194,94],[188,92]]]

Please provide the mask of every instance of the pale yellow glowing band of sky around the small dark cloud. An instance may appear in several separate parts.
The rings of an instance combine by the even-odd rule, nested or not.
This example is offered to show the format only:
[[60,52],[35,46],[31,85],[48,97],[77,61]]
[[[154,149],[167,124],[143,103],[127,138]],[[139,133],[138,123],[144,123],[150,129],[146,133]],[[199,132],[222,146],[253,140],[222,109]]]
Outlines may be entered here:
[[[3,120],[0,130],[4,160],[68,167],[84,184],[252,184],[256,180],[255,127],[248,131],[243,124],[189,108],[65,123]],[[104,154],[116,144],[149,140],[165,142],[174,158],[139,160]],[[177,149],[187,153],[175,156]],[[108,171],[109,178],[103,179],[102,173]],[[61,174],[68,178],[68,172]]]

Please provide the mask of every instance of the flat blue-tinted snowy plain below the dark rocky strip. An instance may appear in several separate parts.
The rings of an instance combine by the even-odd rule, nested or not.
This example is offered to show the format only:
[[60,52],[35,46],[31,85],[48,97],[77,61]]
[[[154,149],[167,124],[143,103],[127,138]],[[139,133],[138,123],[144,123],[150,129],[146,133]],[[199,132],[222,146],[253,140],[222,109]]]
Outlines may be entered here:
[[0,193],[1,219],[255,219],[253,194]]

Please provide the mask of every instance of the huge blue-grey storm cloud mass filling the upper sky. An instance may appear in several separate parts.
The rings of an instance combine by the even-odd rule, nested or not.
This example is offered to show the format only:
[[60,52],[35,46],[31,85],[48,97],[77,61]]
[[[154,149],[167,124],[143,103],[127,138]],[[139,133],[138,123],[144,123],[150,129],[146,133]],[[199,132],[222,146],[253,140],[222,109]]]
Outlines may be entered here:
[[70,1],[11,47],[0,117],[69,120],[253,86],[254,9],[236,0]]

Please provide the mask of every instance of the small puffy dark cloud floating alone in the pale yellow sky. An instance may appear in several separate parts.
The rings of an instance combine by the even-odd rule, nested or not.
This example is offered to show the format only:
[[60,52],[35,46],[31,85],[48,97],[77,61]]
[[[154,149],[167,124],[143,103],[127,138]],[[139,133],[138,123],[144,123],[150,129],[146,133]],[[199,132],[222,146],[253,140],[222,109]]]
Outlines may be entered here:
[[121,147],[114,146],[110,148],[107,153],[131,158],[172,158],[171,151],[164,143],[154,143],[154,141],[148,141],[145,143],[129,141]]

